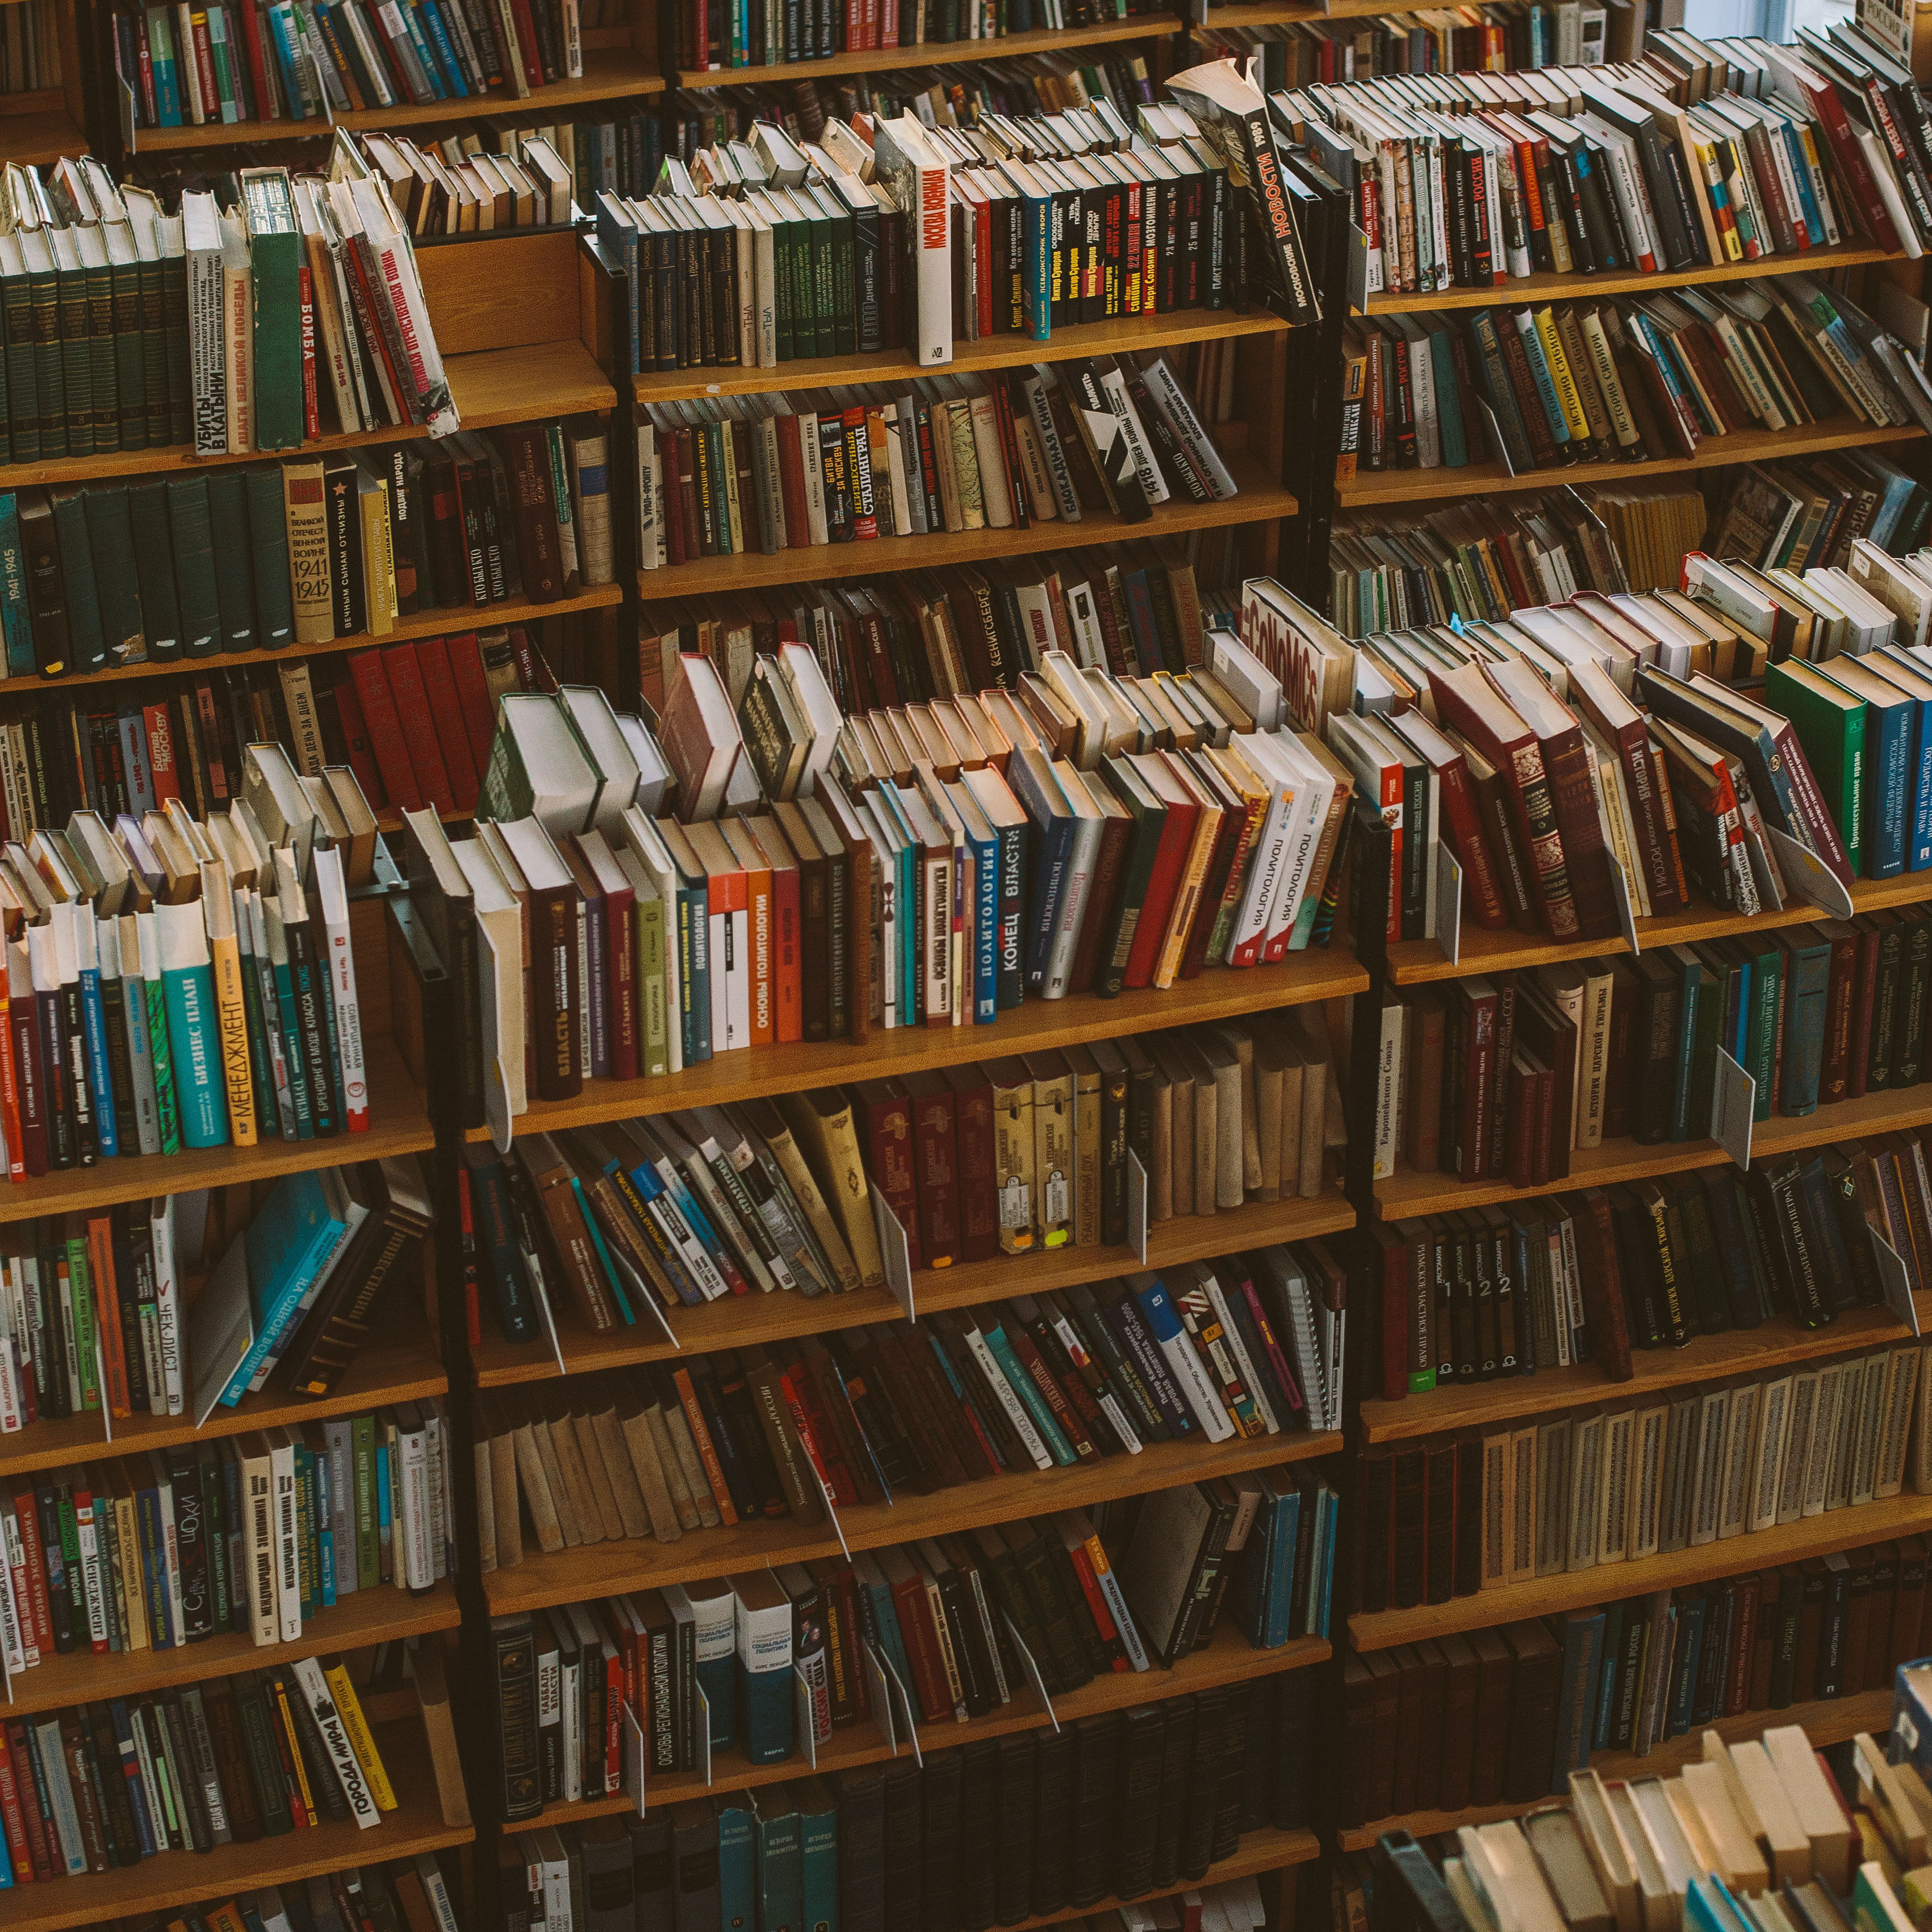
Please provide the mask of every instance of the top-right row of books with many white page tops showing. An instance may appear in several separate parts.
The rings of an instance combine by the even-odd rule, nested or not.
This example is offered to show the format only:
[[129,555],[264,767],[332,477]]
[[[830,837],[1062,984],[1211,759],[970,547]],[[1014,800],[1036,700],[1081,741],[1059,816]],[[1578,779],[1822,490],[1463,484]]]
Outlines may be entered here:
[[1932,147],[1903,60],[1849,21],[1797,46],[1696,44],[1696,71],[1652,35],[1633,62],[1316,83],[1269,110],[1350,189],[1372,290],[1932,242]]

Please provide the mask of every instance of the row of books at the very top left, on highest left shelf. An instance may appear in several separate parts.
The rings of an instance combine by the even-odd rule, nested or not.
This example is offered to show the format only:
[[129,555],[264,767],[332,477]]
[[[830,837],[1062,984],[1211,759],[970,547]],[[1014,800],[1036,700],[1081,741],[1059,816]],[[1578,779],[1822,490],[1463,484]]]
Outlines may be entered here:
[[582,79],[576,0],[410,0],[388,14],[338,0],[232,0],[182,23],[166,6],[110,15],[135,128],[319,120],[437,100],[527,99]]

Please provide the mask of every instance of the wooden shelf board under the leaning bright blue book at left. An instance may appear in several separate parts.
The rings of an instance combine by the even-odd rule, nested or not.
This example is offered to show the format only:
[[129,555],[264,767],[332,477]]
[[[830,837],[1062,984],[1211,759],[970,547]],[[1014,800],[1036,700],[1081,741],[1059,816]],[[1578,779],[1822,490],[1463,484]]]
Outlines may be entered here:
[[305,1397],[269,1387],[261,1395],[243,1395],[234,1408],[216,1408],[199,1430],[191,1414],[124,1416],[114,1424],[112,1441],[99,1412],[33,1422],[17,1435],[0,1435],[0,1476],[60,1468],[62,1463],[97,1455],[137,1455],[143,1449],[172,1449],[176,1443],[214,1441],[249,1430],[299,1428],[328,1416],[359,1416],[371,1408],[444,1395],[448,1387],[442,1356],[423,1320],[421,1302],[410,1289],[404,1304],[383,1320],[383,1333],[342,1372],[332,1395]]

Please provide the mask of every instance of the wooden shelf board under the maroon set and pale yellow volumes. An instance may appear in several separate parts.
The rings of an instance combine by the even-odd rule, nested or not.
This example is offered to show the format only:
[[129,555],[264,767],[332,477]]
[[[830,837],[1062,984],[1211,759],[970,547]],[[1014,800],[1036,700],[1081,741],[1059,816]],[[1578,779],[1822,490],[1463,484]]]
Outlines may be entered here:
[[[1238,1248],[1265,1248],[1283,1240],[1312,1240],[1354,1227],[1354,1209],[1329,1194],[1318,1200],[1254,1202],[1231,1213],[1177,1215],[1148,1231],[1148,1267],[1171,1267],[1209,1254]],[[918,1314],[941,1308],[974,1308],[1007,1294],[1041,1294],[1078,1281],[1107,1281],[1140,1267],[1130,1248],[1055,1248],[1051,1254],[999,1256],[991,1262],[960,1262],[956,1267],[920,1269],[912,1277]],[[885,1289],[856,1289],[833,1300],[802,1294],[726,1296],[703,1308],[670,1312],[678,1343],[692,1352],[707,1349],[746,1349],[757,1341],[813,1335],[827,1327],[862,1327],[896,1321],[900,1306]],[[612,1335],[560,1333],[570,1374],[622,1368],[630,1362],[672,1362],[678,1347],[665,1341],[655,1321]],[[495,1335],[469,1350],[477,1383],[485,1389],[516,1381],[545,1381],[558,1374],[556,1356],[545,1343],[506,1343]],[[1279,1437],[1275,1437],[1279,1439]],[[1138,1461],[1132,1459],[1132,1461]],[[703,1575],[697,1571],[696,1575]]]

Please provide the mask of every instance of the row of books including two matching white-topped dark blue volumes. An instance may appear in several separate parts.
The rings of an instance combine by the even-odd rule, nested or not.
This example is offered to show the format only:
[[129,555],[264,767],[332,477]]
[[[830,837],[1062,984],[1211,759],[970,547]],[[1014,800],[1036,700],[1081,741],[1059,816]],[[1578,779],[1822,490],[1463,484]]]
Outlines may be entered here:
[[1331,1515],[1314,1478],[1277,1470],[1136,1499],[1105,1530],[1119,1567],[1094,1522],[1065,1511],[495,1619],[498,1698],[514,1698],[526,1646],[558,1687],[533,1741],[506,1727],[524,1758],[504,1764],[506,1816],[634,1787],[622,1706],[645,1777],[690,1774],[713,1750],[815,1758],[860,1723],[968,1723],[1030,1681],[1051,1700],[1111,1671],[1173,1669],[1213,1642],[1223,1611],[1264,1650],[1321,1634]]

